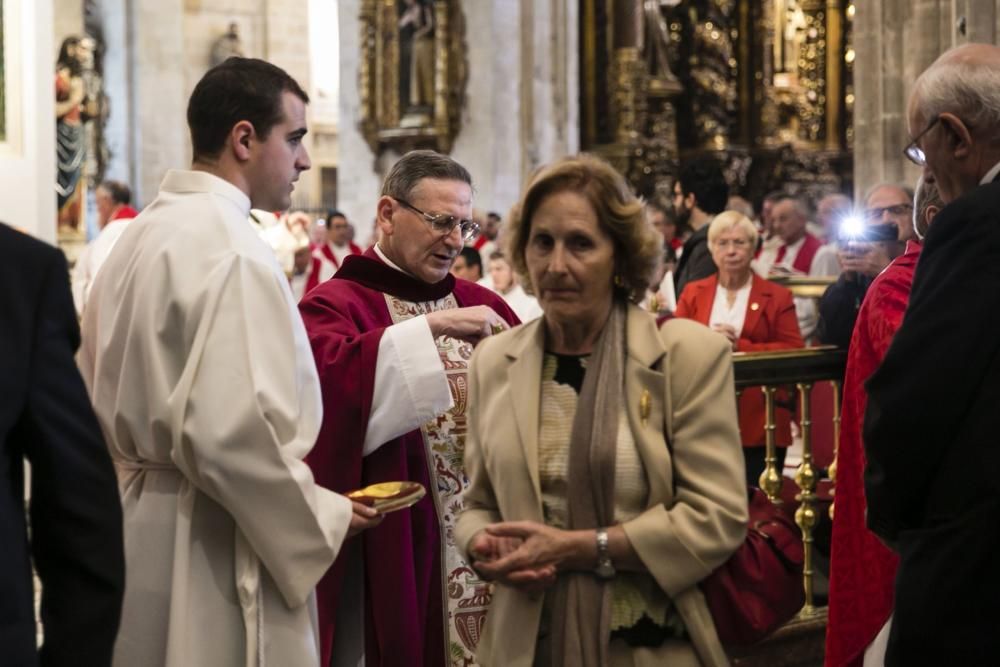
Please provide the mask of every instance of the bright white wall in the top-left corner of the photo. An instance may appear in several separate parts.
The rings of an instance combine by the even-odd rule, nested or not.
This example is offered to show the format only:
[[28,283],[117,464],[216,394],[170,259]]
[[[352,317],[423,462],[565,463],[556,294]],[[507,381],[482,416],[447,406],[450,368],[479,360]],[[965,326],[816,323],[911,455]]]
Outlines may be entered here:
[[[0,220],[55,242],[56,181],[54,54],[51,0],[5,0],[5,39],[20,40],[5,59],[16,126],[0,145]],[[15,17],[15,14],[19,16]],[[16,105],[16,106],[15,106]]]

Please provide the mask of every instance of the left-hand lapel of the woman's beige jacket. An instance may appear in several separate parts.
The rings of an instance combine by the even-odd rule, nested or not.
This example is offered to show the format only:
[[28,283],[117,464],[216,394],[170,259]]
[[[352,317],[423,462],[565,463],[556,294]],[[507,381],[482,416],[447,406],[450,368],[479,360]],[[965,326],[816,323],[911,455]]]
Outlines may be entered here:
[[538,480],[538,421],[541,413],[542,358],[545,354],[545,327],[543,318],[530,322],[521,329],[518,340],[506,352],[510,366],[511,401],[517,433],[524,452],[524,462],[531,476],[535,491],[534,505],[541,521],[542,493]]

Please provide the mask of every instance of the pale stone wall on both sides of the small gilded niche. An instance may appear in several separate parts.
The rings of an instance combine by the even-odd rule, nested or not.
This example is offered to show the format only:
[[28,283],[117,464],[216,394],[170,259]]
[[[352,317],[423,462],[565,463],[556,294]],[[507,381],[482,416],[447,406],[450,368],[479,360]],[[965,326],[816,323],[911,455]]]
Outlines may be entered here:
[[[474,205],[506,215],[540,164],[579,148],[577,3],[463,0],[469,78],[452,156],[472,174]],[[338,207],[366,237],[382,175],[358,128],[360,0],[341,0]]]

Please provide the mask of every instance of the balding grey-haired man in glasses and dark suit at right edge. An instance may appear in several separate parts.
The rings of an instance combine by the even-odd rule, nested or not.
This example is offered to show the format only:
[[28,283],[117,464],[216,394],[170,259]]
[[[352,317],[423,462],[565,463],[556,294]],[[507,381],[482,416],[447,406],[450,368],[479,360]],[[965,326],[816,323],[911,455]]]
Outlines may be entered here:
[[914,84],[912,142],[947,206],[867,385],[868,526],[899,552],[886,665],[1000,655],[1000,48],[967,44]]

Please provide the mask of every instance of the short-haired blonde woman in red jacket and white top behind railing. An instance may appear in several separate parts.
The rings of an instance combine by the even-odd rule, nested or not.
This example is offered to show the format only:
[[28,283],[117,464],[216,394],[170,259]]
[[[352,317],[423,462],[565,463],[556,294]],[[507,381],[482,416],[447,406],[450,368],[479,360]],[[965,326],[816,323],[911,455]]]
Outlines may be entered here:
[[[792,293],[750,269],[757,247],[753,223],[735,211],[720,213],[709,225],[708,247],[718,273],[689,283],[674,315],[707,324],[729,339],[734,352],[803,347]],[[744,390],[739,414],[747,484],[756,485],[764,471],[764,392]],[[792,443],[790,411],[777,407],[775,422],[780,473],[785,449]]]

